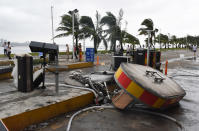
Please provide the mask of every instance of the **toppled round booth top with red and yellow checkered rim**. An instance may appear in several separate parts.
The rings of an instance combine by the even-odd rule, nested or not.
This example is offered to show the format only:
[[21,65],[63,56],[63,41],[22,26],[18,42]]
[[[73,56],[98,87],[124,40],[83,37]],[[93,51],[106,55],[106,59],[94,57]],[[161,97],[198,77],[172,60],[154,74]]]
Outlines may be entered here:
[[122,63],[114,78],[122,89],[113,97],[113,104],[119,109],[130,103],[165,109],[178,103],[186,94],[175,81],[148,66]]

